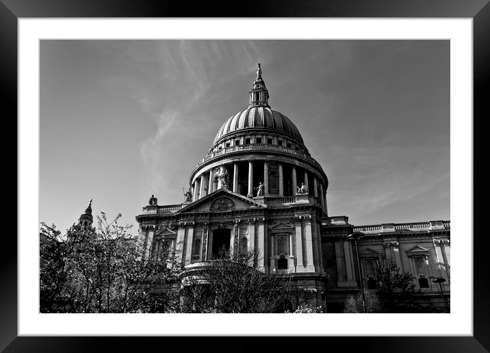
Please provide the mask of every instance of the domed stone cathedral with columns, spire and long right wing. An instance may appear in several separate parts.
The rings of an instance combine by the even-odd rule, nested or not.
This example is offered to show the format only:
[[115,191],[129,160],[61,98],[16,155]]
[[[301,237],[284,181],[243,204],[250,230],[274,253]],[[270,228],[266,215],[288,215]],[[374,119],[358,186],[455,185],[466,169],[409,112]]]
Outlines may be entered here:
[[[348,296],[376,282],[376,261],[396,261],[436,304],[450,288],[450,222],[353,226],[329,216],[328,178],[294,123],[271,109],[261,67],[249,105],[218,129],[207,155],[190,174],[184,202],[158,205],[152,196],[136,216],[144,256],[175,251],[187,268],[222,247],[253,250],[262,272],[287,272],[316,293],[316,304],[340,311]],[[354,245],[359,240],[359,263]],[[359,265],[361,278],[359,278]]]

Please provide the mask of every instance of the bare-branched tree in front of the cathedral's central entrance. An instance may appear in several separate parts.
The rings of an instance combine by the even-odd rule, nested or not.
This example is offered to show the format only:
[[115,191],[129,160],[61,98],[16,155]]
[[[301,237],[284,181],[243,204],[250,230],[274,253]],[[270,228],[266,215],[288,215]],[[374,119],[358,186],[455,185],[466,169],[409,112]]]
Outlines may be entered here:
[[221,251],[215,260],[182,274],[179,311],[187,313],[284,313],[311,293],[294,285],[290,274],[264,274],[250,264],[257,255]]

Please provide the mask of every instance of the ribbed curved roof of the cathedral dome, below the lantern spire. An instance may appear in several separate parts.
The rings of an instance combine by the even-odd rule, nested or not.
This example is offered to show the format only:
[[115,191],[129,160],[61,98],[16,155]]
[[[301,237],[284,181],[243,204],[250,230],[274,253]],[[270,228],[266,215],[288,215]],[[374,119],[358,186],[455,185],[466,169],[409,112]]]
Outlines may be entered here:
[[277,112],[266,105],[250,105],[247,109],[231,116],[216,134],[214,143],[229,133],[235,133],[242,129],[272,129],[298,140],[303,144],[303,139],[296,125],[287,116]]

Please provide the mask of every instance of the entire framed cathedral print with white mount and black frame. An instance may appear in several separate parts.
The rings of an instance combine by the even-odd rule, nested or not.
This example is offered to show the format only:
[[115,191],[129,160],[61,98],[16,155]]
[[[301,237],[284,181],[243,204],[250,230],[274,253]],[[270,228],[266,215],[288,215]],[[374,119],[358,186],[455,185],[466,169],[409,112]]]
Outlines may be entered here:
[[[236,17],[203,5],[3,1],[18,232],[17,253],[2,260],[0,347],[301,336],[355,337],[374,351],[484,352],[473,131],[488,111],[487,2],[267,3]],[[188,306],[154,299],[170,296],[172,280],[133,286],[134,300],[120,304],[129,287],[97,292],[85,264],[70,288],[86,281],[93,293],[46,304],[42,281],[59,274],[40,284],[42,244],[56,231],[40,222],[57,224],[66,244],[113,229],[128,249],[121,259],[162,261],[187,288],[179,308]],[[251,282],[230,278],[227,293],[248,293],[231,306],[206,274],[224,254],[233,263],[250,254],[246,276],[287,277],[303,301],[299,292],[296,302],[245,300]],[[403,296],[386,291],[391,274]],[[206,309],[195,300],[203,282],[214,292]],[[260,283],[256,291],[271,293],[283,285]]]

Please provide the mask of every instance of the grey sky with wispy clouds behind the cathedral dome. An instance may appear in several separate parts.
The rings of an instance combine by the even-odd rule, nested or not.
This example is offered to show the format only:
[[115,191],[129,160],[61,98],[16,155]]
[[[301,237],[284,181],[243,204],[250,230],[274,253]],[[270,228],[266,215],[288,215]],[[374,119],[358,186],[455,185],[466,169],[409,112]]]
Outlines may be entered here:
[[39,221],[183,201],[261,62],[355,225],[450,220],[448,40],[41,40]]

